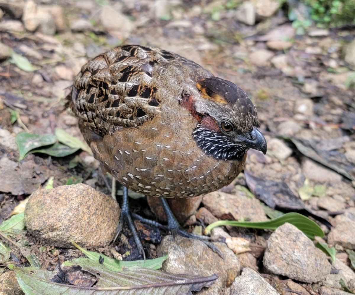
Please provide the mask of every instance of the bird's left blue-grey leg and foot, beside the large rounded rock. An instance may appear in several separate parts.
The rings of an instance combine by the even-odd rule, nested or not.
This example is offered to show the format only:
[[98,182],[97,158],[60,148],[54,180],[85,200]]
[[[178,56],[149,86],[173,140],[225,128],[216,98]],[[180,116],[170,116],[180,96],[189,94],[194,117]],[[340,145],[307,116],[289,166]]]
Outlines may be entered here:
[[136,230],[134,223],[132,221],[131,210],[130,210],[129,201],[128,201],[128,189],[126,187],[122,187],[122,191],[123,191],[123,193],[122,193],[120,223],[117,227],[117,233],[116,233],[114,241],[120,235],[124,222],[127,221],[128,226],[130,227],[131,233],[133,235],[133,239],[136,242],[138,252],[139,252],[139,254],[141,254],[143,256],[144,261],[146,261],[146,254],[144,253],[143,245],[141,243],[141,240],[138,236],[137,230]]

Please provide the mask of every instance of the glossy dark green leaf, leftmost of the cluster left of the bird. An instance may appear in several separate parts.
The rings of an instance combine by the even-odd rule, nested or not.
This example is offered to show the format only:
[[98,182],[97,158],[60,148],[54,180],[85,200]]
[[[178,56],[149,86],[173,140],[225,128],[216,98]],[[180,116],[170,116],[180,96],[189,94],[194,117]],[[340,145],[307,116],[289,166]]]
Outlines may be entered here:
[[55,143],[55,136],[53,134],[32,134],[28,132],[21,132],[16,135],[16,144],[20,153],[21,161],[29,151],[37,147],[47,146]]

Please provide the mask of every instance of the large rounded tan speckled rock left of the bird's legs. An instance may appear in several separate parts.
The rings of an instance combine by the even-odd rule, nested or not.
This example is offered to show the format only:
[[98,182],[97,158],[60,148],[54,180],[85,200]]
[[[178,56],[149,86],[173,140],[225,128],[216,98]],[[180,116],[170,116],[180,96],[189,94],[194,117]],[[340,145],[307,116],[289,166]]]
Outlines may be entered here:
[[24,210],[27,230],[56,247],[108,245],[116,234],[120,207],[86,184],[35,191]]

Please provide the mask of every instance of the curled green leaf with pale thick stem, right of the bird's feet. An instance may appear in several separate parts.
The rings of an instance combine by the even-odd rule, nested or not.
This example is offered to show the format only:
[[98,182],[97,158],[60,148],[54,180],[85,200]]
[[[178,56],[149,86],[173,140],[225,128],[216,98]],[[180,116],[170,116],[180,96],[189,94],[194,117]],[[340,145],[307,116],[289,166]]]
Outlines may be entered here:
[[324,236],[323,230],[318,226],[317,223],[312,221],[306,216],[300,213],[290,212],[286,213],[280,217],[271,219],[269,221],[263,222],[238,222],[229,220],[220,220],[213,222],[205,229],[206,234],[210,234],[211,230],[218,226],[237,226],[237,227],[248,227],[248,228],[259,228],[259,229],[272,229],[275,230],[284,223],[291,223],[299,230],[301,230],[308,238],[314,239],[314,236]]

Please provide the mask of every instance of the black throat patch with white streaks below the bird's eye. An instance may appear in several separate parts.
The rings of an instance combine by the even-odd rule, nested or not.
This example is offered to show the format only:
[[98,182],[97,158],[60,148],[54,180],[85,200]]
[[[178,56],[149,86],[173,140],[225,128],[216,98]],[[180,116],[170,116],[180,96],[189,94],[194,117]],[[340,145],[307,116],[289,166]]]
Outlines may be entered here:
[[241,160],[249,150],[244,144],[234,143],[226,135],[207,128],[197,127],[192,137],[200,149],[216,160]]

